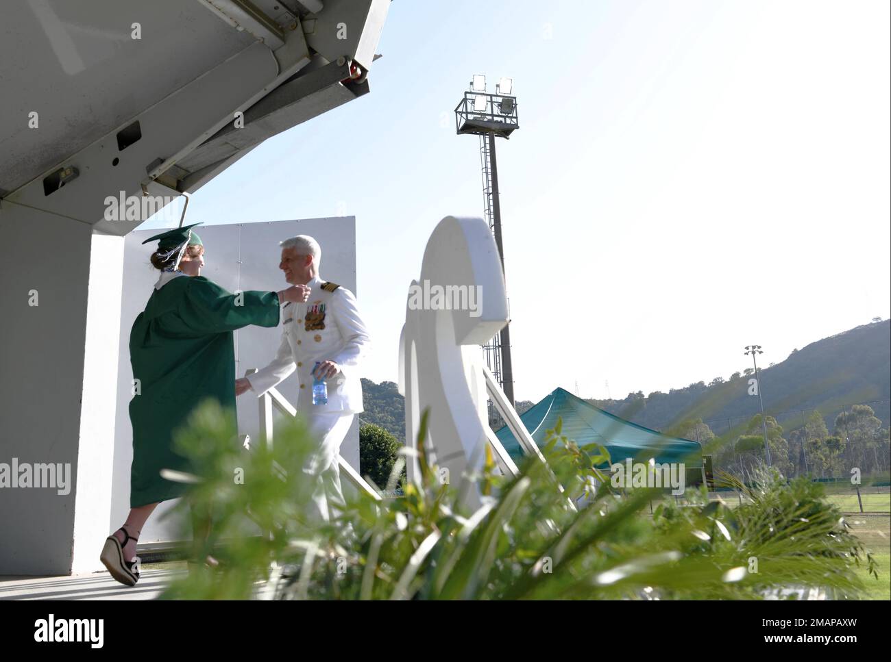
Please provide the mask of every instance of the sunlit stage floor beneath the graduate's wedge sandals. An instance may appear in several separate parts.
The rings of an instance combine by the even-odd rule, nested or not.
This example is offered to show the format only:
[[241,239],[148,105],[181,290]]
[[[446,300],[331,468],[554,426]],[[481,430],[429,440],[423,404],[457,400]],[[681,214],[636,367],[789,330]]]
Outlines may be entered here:
[[0,600],[151,600],[186,570],[143,568],[139,584],[120,585],[107,572],[71,577],[0,577]]

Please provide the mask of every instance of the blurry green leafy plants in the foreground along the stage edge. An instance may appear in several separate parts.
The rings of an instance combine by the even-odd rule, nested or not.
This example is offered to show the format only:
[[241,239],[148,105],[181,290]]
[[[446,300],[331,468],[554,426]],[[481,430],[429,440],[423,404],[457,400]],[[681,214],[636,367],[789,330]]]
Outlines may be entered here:
[[[416,457],[420,484],[405,497],[348,498],[335,521],[307,521],[313,443],[306,427],[276,428],[273,448],[250,453],[228,439],[221,412],[200,408],[180,438],[200,466],[190,495],[212,513],[218,569],[176,580],[163,597],[195,599],[762,599],[796,588],[837,598],[863,590],[856,568],[871,555],[806,480],[759,477],[751,503],[730,509],[688,493],[691,505],[660,505],[656,489],[625,493],[597,469],[599,445],[579,447],[549,431],[546,464],[528,458],[519,475],[498,475],[491,456],[458,484],[429,464],[427,414]],[[403,472],[393,467],[389,493]],[[453,480],[454,482],[454,480]],[[691,490],[695,492],[695,490]],[[474,508],[474,498],[480,494]]]

